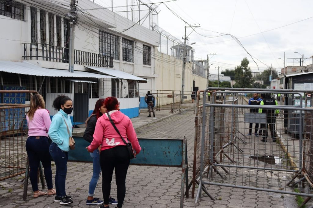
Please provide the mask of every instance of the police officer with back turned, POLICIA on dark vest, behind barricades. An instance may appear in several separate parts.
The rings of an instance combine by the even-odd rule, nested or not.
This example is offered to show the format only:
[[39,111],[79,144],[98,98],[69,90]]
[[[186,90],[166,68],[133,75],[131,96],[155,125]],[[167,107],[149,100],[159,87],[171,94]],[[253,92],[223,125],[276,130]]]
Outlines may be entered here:
[[[277,101],[271,97],[270,94],[261,94],[261,98],[263,101],[261,101],[260,105],[272,105],[272,106],[277,106],[278,103]],[[261,132],[263,131],[263,139],[261,141],[266,142],[266,138],[268,136],[268,126],[269,126],[269,131],[271,133],[271,138],[273,138],[273,141],[276,141],[277,134],[275,130],[275,122],[276,122],[276,117],[277,114],[279,113],[279,110],[274,110],[274,109],[259,109],[259,113],[266,113],[266,123],[261,123]]]

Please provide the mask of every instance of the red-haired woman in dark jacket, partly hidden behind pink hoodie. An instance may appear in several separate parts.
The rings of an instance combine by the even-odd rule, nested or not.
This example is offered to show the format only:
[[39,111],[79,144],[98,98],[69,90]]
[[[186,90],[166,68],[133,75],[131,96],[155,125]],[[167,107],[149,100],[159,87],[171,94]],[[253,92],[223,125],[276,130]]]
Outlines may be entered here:
[[[97,100],[95,104],[95,109],[90,115],[90,117],[87,119],[86,124],[86,130],[84,132],[84,139],[88,141],[89,143],[93,140],[93,134],[95,132],[95,126],[98,118],[102,116],[103,113],[106,112],[105,108],[105,99],[99,99]],[[88,197],[86,201],[86,205],[101,205],[103,204],[103,201],[99,200],[98,198],[94,198],[94,192],[97,185],[97,182],[99,180],[101,168],[100,168],[100,148],[95,149],[92,153],[90,153],[90,156],[92,157],[93,161],[93,174],[89,183],[89,191],[88,191]],[[117,201],[115,199],[111,198],[109,199],[109,203],[112,205],[117,205]]]

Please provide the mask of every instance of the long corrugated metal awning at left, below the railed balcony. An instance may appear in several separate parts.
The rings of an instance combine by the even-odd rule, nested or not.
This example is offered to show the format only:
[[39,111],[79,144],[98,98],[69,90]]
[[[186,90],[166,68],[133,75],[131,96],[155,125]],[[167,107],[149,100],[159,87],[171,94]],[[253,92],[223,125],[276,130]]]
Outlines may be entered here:
[[74,71],[74,73],[68,70],[61,69],[46,69],[38,67],[28,62],[11,62],[0,61],[0,71],[16,74],[26,74],[43,77],[82,77],[82,78],[115,78],[102,74],[95,74],[90,72]]

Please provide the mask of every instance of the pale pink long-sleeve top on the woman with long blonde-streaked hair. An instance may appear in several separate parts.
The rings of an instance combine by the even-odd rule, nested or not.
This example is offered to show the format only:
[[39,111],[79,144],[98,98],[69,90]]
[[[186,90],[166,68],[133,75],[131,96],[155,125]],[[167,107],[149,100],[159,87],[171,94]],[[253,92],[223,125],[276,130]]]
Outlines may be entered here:
[[47,136],[51,124],[51,119],[48,110],[44,108],[38,108],[35,111],[32,120],[29,120],[26,115],[28,124],[28,136]]

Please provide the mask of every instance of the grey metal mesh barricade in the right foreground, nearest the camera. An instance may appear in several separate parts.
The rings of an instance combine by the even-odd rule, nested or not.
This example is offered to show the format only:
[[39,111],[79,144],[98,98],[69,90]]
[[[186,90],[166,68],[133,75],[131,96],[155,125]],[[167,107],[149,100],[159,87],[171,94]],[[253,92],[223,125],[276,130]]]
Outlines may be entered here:
[[[208,88],[207,90],[212,89],[214,88]],[[226,88],[225,90],[231,89]],[[217,93],[233,93],[235,95],[245,91],[247,91],[245,93],[253,93],[254,90],[259,91],[259,93],[276,93],[272,89],[233,90],[233,92],[213,92],[213,97]],[[299,94],[296,90],[279,90],[277,92]],[[200,166],[200,171],[196,171],[196,174],[198,174],[196,179],[199,182],[196,202],[201,196],[201,190],[205,189],[204,185],[313,197],[309,183],[303,179],[311,178],[310,180],[312,180],[311,169],[313,166],[308,161],[312,161],[310,159],[313,150],[313,108],[281,105],[260,107],[235,102],[227,104],[225,95],[223,97],[223,104],[217,104],[218,102],[214,101],[214,98],[211,103],[203,101],[204,106],[201,110],[203,115],[200,123],[202,128],[201,151],[198,149],[198,134],[197,143],[195,142],[195,146],[197,144],[197,147],[195,147],[196,155],[194,156],[194,158],[200,156],[200,165],[196,163],[196,166],[194,166],[196,168]],[[209,108],[209,113],[207,108]],[[241,110],[239,111],[239,109]],[[257,113],[250,113],[250,109],[256,109]],[[263,109],[263,113],[259,113],[259,109]],[[293,117],[276,117],[275,110],[288,111],[287,115],[293,115]],[[228,115],[230,113],[231,115]],[[198,119],[198,116],[199,114],[197,114],[196,119]],[[233,118],[230,124],[228,117]],[[298,130],[295,128],[292,130],[286,129],[284,119],[299,121],[299,123],[295,123]],[[236,123],[238,126],[236,126]],[[249,123],[261,124],[260,128],[263,135],[259,136],[259,129],[253,129],[256,134],[248,136]],[[225,125],[228,125],[229,128],[225,128]],[[290,128],[289,124],[288,127]],[[292,135],[295,131],[298,131],[297,137]],[[205,176],[205,173],[208,173],[207,176]],[[296,176],[300,176],[300,181],[293,181]],[[299,182],[301,182],[302,187],[305,187],[302,188],[301,193],[294,191],[294,188],[299,186]],[[209,193],[207,194],[209,195]],[[212,198],[212,196],[210,197]]]

